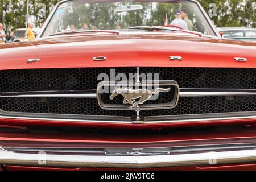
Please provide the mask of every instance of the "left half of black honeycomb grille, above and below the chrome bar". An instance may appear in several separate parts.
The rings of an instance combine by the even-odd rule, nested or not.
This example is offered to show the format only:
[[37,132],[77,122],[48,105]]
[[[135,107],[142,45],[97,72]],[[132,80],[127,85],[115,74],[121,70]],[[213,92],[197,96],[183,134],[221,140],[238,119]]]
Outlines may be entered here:
[[[115,68],[118,73],[135,73],[137,68]],[[110,68],[22,69],[0,71],[0,92],[47,90],[96,90],[98,75],[110,76]],[[131,117],[135,111],[103,110],[97,99],[0,98],[0,109],[22,113],[117,115]]]

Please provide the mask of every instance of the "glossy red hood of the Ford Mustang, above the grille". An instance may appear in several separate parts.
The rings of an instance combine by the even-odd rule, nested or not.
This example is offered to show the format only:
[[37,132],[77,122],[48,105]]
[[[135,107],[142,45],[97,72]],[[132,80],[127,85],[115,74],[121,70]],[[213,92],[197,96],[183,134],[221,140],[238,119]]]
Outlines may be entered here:
[[[256,68],[256,43],[187,35],[93,34],[58,36],[0,46],[0,69],[79,67]],[[106,61],[93,61],[105,56]],[[170,61],[181,56],[183,61]],[[236,62],[234,57],[245,57]],[[39,58],[28,64],[27,59]]]

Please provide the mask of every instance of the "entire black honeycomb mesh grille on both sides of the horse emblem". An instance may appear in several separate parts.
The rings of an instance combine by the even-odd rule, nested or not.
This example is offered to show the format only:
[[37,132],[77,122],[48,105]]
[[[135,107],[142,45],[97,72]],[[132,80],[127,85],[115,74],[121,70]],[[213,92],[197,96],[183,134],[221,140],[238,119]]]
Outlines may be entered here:
[[[136,73],[136,68],[115,68],[117,73]],[[238,68],[141,68],[141,73],[159,73],[159,80],[175,80],[180,88],[256,89],[256,69]],[[0,71],[0,92],[96,89],[100,73],[110,68],[24,69]],[[102,100],[108,102],[109,95]],[[166,93],[152,104],[171,100]],[[118,96],[113,104],[121,104]],[[120,103],[121,102],[121,103]],[[145,103],[146,104],[146,103]],[[22,113],[56,113],[134,116],[134,111],[102,110],[96,99],[0,98],[0,109]],[[146,110],[141,115],[179,115],[256,111],[255,96],[180,98],[174,109]]]

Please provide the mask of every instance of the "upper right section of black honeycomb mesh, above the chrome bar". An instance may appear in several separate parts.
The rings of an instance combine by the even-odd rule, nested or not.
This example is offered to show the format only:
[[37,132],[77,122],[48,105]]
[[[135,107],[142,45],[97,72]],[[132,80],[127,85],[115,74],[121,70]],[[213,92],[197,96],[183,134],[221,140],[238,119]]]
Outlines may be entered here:
[[159,80],[175,80],[180,88],[256,89],[256,69],[155,67],[141,73],[159,73]]

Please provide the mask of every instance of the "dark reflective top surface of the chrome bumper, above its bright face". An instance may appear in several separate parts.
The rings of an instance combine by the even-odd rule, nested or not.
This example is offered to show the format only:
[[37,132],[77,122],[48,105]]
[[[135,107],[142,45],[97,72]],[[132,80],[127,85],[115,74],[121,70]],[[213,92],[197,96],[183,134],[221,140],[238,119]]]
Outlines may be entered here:
[[[171,146],[170,147],[3,147],[2,150],[16,152],[16,153],[28,153],[33,152],[38,154],[40,151],[51,152],[51,154],[60,153],[72,153],[75,154],[105,154],[105,155],[167,155],[181,152],[200,152],[200,151],[234,151],[234,150],[251,150],[255,149],[255,143],[238,143],[238,144],[202,144],[202,145],[190,145],[190,146]],[[129,154],[130,153],[130,154]]]

